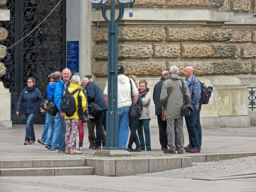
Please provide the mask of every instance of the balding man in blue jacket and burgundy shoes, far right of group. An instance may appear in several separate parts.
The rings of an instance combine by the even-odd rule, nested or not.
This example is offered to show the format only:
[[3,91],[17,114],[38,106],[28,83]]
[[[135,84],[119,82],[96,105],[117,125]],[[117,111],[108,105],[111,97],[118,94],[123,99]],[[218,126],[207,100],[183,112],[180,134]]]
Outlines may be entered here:
[[199,144],[199,140],[202,139],[202,128],[196,128],[196,119],[199,108],[199,100],[201,98],[201,86],[200,82],[194,75],[194,69],[192,66],[186,66],[182,74],[184,74],[186,77],[186,82],[188,83],[188,89],[191,96],[191,104],[194,107],[194,114],[185,117],[190,144],[190,148],[186,149],[185,151],[191,153],[200,153],[201,146]]

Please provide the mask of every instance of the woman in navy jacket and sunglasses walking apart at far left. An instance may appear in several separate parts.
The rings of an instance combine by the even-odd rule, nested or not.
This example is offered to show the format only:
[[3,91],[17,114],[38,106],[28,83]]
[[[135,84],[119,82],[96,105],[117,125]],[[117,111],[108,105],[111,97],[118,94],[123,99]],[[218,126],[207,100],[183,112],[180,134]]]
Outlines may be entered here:
[[40,90],[36,88],[35,78],[28,78],[27,86],[22,90],[20,98],[17,103],[16,114],[20,114],[20,106],[23,102],[23,112],[26,118],[26,136],[24,145],[34,144],[36,136],[34,132],[34,118],[38,111],[38,101],[42,100]]

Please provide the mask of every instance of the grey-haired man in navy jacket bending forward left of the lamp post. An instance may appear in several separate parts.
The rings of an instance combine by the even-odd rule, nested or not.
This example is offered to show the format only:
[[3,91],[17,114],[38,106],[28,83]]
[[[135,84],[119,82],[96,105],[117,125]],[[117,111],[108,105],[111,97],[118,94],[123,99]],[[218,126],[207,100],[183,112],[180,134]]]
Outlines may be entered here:
[[88,104],[94,101],[102,109],[100,116],[98,118],[94,118],[96,126],[96,139],[95,146],[92,149],[98,150],[101,149],[102,125],[106,129],[106,110],[108,109],[108,106],[105,102],[104,94],[100,86],[94,82],[91,82],[86,77],[82,78],[82,84],[87,92]]

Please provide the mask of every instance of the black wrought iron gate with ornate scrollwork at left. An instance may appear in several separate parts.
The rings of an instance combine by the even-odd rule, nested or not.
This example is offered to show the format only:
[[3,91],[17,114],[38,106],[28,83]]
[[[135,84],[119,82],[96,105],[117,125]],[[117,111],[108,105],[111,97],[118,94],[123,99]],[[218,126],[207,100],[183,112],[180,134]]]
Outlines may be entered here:
[[[7,0],[10,21],[0,24],[8,30],[7,39],[1,42],[8,48],[6,57],[1,60],[7,70],[0,80],[5,88],[10,89],[13,123],[26,122],[23,112],[20,116],[16,116],[15,112],[27,79],[36,78],[36,87],[43,94],[50,82],[48,75],[56,70],[61,71],[66,66],[66,0],[62,0],[57,6],[59,2],[60,0]],[[38,24],[40,26],[36,28]],[[34,31],[29,34],[32,30]],[[27,34],[29,35],[24,38]],[[24,40],[10,48],[22,38]],[[38,112],[34,123],[44,123],[44,114]]]

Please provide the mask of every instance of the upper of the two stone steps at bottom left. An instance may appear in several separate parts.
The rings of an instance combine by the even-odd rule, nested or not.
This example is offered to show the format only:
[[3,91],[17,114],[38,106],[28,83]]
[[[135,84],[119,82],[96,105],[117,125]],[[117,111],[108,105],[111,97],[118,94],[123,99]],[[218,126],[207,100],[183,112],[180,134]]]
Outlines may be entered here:
[[0,160],[0,168],[32,168],[32,167],[75,167],[85,166],[86,159],[29,159],[29,160]]

